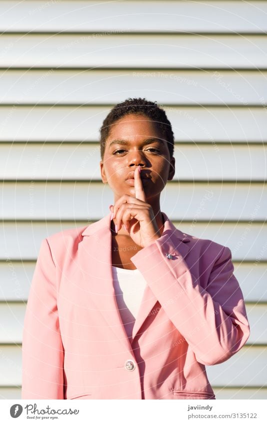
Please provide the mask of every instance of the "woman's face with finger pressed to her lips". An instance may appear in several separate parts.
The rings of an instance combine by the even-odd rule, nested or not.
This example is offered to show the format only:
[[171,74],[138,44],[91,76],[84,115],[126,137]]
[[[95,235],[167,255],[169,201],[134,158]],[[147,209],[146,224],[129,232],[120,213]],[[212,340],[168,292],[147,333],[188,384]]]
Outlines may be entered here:
[[123,194],[135,197],[129,173],[138,165],[147,202],[158,200],[167,180],[173,178],[175,159],[170,159],[167,142],[147,116],[129,114],[111,126],[100,161],[102,182],[113,191],[114,202]]

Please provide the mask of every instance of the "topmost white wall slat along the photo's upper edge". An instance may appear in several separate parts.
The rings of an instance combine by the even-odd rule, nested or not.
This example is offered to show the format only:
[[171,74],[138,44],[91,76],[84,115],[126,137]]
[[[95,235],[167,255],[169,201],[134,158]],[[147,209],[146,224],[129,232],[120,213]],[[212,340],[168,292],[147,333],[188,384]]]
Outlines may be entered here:
[[0,30],[261,32],[266,12],[262,1],[8,0]]

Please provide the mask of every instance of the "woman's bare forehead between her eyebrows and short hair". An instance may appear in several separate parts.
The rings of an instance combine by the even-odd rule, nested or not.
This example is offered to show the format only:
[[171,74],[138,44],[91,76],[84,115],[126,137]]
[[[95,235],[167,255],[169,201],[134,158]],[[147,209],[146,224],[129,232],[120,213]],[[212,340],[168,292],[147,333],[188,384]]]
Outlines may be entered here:
[[156,136],[160,138],[160,131],[154,122],[145,115],[125,115],[111,125],[108,140],[114,137],[142,138],[143,136]]

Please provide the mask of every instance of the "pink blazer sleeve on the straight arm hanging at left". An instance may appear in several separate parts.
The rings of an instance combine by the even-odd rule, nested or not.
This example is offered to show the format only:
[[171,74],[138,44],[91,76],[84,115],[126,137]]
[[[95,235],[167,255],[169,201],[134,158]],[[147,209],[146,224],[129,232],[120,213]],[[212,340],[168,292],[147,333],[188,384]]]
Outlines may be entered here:
[[64,399],[63,360],[55,265],[44,239],[24,317],[21,399]]

